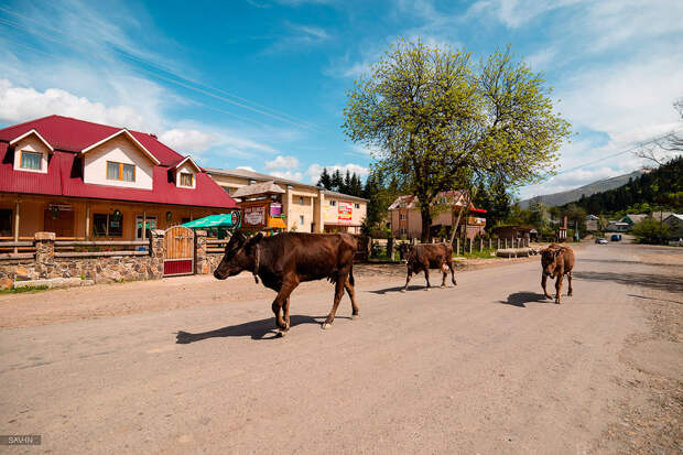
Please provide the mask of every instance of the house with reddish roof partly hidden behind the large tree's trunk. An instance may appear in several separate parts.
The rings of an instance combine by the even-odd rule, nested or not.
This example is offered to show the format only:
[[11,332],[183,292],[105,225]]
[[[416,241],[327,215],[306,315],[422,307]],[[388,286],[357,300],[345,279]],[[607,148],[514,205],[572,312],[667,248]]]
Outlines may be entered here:
[[[464,189],[452,189],[436,195],[432,204],[434,215],[430,227],[433,237],[438,237],[444,231],[449,234],[459,212],[463,212],[463,217],[458,224],[460,234],[465,232],[469,239],[474,239],[478,234],[484,234],[486,210],[476,208],[471,203],[468,205],[467,201],[467,192]],[[388,210],[391,234],[395,238],[422,237],[422,214],[420,213],[418,196],[399,196]],[[467,215],[465,216],[465,214]]]

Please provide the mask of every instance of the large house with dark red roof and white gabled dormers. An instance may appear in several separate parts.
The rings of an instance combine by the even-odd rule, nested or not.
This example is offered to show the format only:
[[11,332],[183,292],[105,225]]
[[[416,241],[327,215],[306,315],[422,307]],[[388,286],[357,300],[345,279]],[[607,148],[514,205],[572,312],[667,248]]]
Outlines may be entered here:
[[137,240],[237,208],[151,133],[62,116],[0,130],[0,240]]

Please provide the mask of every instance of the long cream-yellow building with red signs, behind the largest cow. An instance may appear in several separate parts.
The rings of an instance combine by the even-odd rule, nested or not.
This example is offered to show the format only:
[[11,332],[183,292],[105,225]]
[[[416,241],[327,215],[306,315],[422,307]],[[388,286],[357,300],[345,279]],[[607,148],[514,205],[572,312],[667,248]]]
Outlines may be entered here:
[[282,193],[272,195],[282,204],[286,230],[297,232],[360,234],[368,201],[273,175],[236,169],[206,169],[214,181],[228,194],[239,188],[273,182]]

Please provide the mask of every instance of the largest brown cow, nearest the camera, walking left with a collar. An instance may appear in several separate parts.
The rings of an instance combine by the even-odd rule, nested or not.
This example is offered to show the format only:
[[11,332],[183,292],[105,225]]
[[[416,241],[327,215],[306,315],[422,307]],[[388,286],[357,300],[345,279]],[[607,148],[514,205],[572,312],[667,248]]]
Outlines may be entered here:
[[292,291],[302,281],[326,278],[336,283],[334,304],[323,323],[323,328],[327,328],[335,319],[345,289],[351,299],[354,318],[358,317],[354,291],[356,250],[356,239],[348,234],[283,232],[272,237],[258,234],[247,240],[241,232],[236,232],[226,246],[214,277],[225,280],[248,270],[253,273],[257,283],[260,278],[263,285],[277,291],[272,310],[283,336],[290,329]]

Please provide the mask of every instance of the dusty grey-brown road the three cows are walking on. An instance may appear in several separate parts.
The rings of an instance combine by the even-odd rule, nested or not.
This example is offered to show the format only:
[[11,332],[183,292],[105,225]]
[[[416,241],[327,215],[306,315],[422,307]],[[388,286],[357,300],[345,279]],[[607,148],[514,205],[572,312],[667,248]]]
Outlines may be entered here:
[[360,319],[345,299],[321,331],[327,285],[294,294],[285,338],[270,296],[3,329],[0,433],[52,453],[675,452],[682,266],[590,246],[562,305],[536,262],[405,294],[359,279]]

